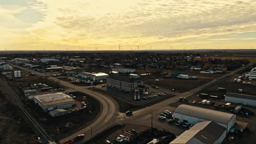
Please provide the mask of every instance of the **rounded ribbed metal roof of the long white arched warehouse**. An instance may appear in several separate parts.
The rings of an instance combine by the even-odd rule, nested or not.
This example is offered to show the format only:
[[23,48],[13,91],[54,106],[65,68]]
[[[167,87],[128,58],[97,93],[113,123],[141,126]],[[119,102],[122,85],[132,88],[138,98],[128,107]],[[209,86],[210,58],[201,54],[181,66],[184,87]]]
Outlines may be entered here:
[[187,115],[191,117],[197,117],[201,119],[205,119],[208,121],[213,121],[222,124],[228,124],[230,120],[235,117],[234,114],[214,111],[210,109],[204,109],[197,106],[191,105],[179,105],[174,112],[181,113],[182,115]]

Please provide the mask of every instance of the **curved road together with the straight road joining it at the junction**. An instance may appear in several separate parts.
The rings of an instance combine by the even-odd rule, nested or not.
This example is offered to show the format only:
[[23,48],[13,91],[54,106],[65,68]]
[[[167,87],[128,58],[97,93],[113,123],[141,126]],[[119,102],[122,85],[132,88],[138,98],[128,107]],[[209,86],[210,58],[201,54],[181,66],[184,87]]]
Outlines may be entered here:
[[[253,63],[249,64],[252,65]],[[13,64],[11,64],[13,65]],[[17,67],[16,65],[13,65],[14,67]],[[246,66],[248,67],[248,65]],[[26,71],[30,71],[32,73],[35,73],[35,71],[32,70],[28,70],[22,67],[18,67],[22,70],[26,70]],[[232,74],[235,74],[238,70],[243,69],[237,69],[236,71],[232,71],[229,74],[226,74],[224,76],[221,76],[217,79],[214,79],[211,82],[206,83],[205,85],[202,85],[200,87],[197,87],[195,89],[192,89],[189,92],[185,92],[185,93],[181,93],[176,95],[175,97],[166,99],[164,101],[161,101],[160,103],[145,107],[143,109],[139,109],[137,111],[133,112],[133,116],[131,117],[127,117],[127,116],[123,116],[123,115],[119,115],[118,116],[118,104],[115,102],[115,100],[113,100],[112,98],[108,97],[107,95],[101,94],[101,93],[97,93],[97,92],[92,92],[88,89],[83,89],[81,87],[72,85],[69,82],[65,82],[65,81],[61,81],[59,79],[56,79],[54,77],[48,77],[49,80],[55,81],[55,82],[59,82],[61,85],[65,86],[65,87],[70,87],[73,88],[79,92],[83,92],[86,93],[88,95],[91,95],[92,97],[96,98],[98,101],[100,101],[100,103],[102,104],[102,112],[100,114],[100,116],[95,120],[95,122],[93,122],[91,124],[92,129],[93,129],[93,134],[97,134],[100,133],[101,131],[103,131],[104,129],[106,129],[107,127],[109,127],[110,125],[119,123],[119,122],[123,122],[123,123],[136,123],[136,124],[142,124],[142,125],[147,125],[150,126],[151,124],[151,116],[150,113],[161,113],[162,111],[166,110],[166,109],[170,109],[171,106],[169,106],[171,103],[175,103],[176,101],[179,100],[179,97],[190,97],[191,95],[194,95],[196,93],[198,93],[199,91],[201,91],[202,89],[209,87],[211,85],[213,85],[214,83],[216,83],[217,81],[224,79]],[[39,76],[44,76],[41,73],[35,73]],[[185,85],[185,83],[184,83]],[[174,107],[173,107],[174,108]],[[156,118],[154,118],[156,119]],[[155,120],[154,120],[155,121]],[[163,125],[162,123],[160,123],[159,121],[156,121],[154,123],[154,127],[158,127],[158,128],[162,128],[162,129],[166,129],[165,125]],[[86,134],[86,139],[88,140],[90,139],[90,129],[91,127],[86,127],[80,131],[78,131],[77,133],[66,137],[65,139],[62,139],[60,142],[64,142],[66,140],[72,139],[74,138],[77,134]],[[179,129],[177,129],[179,130]],[[179,133],[182,133],[183,131],[179,131]],[[83,141],[84,142],[84,141]],[[80,143],[80,142],[79,142]]]

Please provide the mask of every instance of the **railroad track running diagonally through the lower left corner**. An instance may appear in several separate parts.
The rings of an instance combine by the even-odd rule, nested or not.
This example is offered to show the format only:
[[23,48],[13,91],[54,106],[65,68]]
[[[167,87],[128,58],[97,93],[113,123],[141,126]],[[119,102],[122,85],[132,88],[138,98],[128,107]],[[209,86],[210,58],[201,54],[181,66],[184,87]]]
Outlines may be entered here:
[[0,78],[0,85],[3,87],[2,90],[7,93],[10,98],[14,101],[14,103],[20,108],[20,110],[24,113],[25,117],[28,119],[28,121],[31,122],[33,127],[36,131],[40,134],[40,136],[44,139],[45,143],[49,144],[56,144],[54,139],[49,136],[48,133],[40,126],[40,124],[36,121],[36,119],[33,118],[33,116],[25,109],[24,105],[22,105],[22,102],[19,98],[19,96],[11,89],[7,83]]

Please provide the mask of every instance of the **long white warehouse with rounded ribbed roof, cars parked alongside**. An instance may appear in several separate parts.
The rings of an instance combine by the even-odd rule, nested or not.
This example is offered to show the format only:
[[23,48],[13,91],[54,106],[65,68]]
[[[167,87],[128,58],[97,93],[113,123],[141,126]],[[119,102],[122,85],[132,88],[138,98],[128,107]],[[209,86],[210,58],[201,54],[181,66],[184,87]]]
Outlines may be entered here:
[[226,128],[226,133],[236,122],[236,115],[234,114],[184,104],[179,105],[174,110],[172,117],[178,121],[190,124],[213,121]]

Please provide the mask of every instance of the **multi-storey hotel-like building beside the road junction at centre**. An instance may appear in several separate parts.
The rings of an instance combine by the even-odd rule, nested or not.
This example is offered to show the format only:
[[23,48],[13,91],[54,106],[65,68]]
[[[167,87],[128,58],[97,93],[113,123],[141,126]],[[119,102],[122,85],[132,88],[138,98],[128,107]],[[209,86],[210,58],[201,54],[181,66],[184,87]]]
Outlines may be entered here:
[[149,87],[144,86],[144,81],[140,79],[134,79],[129,76],[109,76],[107,78],[107,85],[127,92],[134,92],[135,90],[139,90],[140,94],[145,94],[149,91]]

